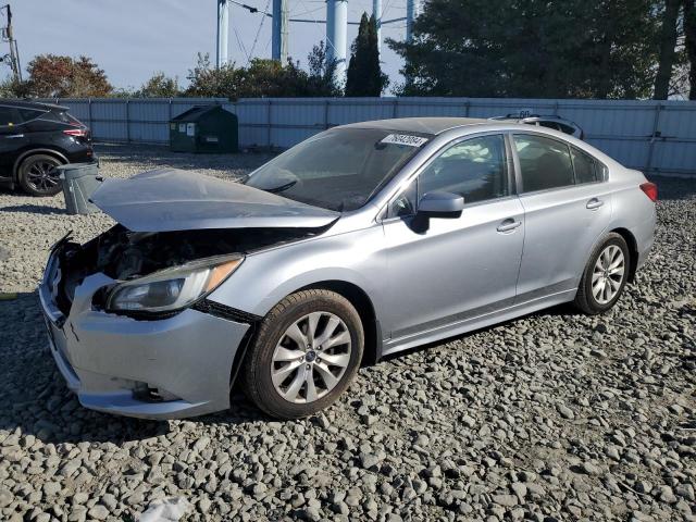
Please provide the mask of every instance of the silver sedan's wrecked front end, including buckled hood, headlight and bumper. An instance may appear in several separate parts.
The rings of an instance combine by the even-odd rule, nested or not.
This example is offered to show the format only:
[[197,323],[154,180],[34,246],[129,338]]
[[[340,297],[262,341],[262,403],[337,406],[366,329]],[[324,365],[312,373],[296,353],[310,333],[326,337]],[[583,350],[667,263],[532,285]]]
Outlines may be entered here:
[[148,419],[229,407],[260,318],[207,296],[246,257],[322,234],[339,215],[253,187],[160,169],[108,179],[119,224],[52,249],[39,286],[50,349],[87,408]]

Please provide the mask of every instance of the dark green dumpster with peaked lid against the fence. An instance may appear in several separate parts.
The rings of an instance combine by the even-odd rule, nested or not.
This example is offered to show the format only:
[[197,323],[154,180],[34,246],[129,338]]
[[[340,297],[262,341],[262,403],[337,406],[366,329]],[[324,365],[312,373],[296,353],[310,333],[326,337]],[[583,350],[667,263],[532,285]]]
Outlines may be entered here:
[[237,115],[222,105],[197,105],[170,122],[174,152],[238,152]]

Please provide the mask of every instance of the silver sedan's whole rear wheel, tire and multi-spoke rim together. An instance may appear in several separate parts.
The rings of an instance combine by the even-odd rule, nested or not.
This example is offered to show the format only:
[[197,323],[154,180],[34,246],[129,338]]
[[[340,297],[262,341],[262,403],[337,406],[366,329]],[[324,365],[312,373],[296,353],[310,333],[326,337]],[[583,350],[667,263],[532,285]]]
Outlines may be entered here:
[[626,285],[630,256],[625,239],[610,233],[589,257],[577,288],[575,306],[589,315],[613,307]]

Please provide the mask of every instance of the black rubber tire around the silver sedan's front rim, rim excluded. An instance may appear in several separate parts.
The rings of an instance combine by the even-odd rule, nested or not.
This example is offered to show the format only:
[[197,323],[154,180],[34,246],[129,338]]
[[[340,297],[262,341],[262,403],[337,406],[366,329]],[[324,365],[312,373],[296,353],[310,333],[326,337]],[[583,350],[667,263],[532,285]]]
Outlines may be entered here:
[[[290,402],[276,390],[273,384],[271,372],[277,364],[273,361],[273,355],[276,346],[284,340],[286,331],[313,312],[326,312],[343,321],[344,324],[340,327],[345,326],[350,334],[349,362],[338,383],[333,389],[327,389],[324,396],[311,402]],[[346,390],[360,368],[363,349],[364,333],[360,315],[346,298],[330,290],[301,290],[277,303],[259,325],[253,345],[245,357],[241,370],[243,389],[249,399],[273,418],[299,419],[311,415],[330,406]],[[320,363],[320,357],[325,356],[319,351],[316,353],[316,359],[312,357],[312,362]],[[308,357],[307,361],[309,360]],[[315,375],[319,378],[320,374]],[[302,385],[302,389],[307,395],[306,384]]]

